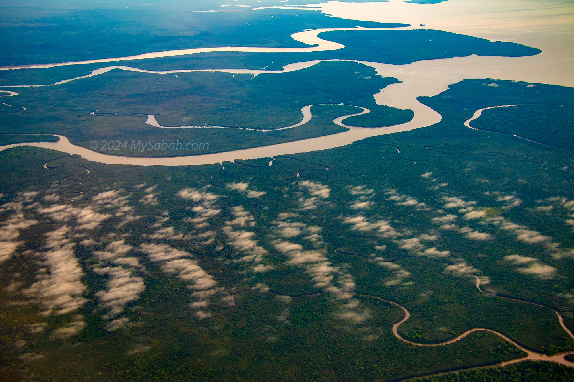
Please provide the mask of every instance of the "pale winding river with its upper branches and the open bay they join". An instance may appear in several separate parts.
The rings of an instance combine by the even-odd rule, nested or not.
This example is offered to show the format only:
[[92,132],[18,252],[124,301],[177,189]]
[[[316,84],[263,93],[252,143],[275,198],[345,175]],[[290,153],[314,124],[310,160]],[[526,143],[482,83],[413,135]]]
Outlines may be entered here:
[[[478,8],[477,8],[478,7]],[[291,7],[297,9],[297,7]],[[375,135],[390,134],[393,132],[407,131],[414,128],[430,126],[441,120],[441,116],[417,101],[418,96],[434,96],[448,88],[448,85],[463,79],[505,79],[526,82],[541,82],[558,85],[574,85],[574,31],[571,25],[574,21],[574,5],[565,1],[550,2],[538,0],[532,3],[526,0],[509,0],[499,2],[484,0],[478,5],[476,2],[463,0],[449,0],[432,6],[412,5],[402,0],[391,0],[387,3],[339,3],[328,2],[317,5],[318,9],[335,15],[336,17],[354,18],[355,20],[379,21],[379,22],[408,22],[413,26],[407,28],[388,29],[413,29],[433,28],[448,30],[457,33],[472,34],[473,36],[490,38],[491,40],[514,41],[521,44],[534,46],[542,49],[542,53],[530,57],[480,57],[474,54],[468,57],[455,57],[452,59],[424,60],[408,65],[390,65],[359,62],[375,68],[378,75],[395,77],[401,82],[391,84],[381,92],[374,95],[377,104],[410,109],[414,112],[414,118],[408,122],[390,127],[360,128],[347,126],[343,123],[348,116],[335,119],[335,123],[347,127],[348,131],[324,137],[310,138],[302,141],[280,143],[253,149],[228,151],[226,153],[195,155],[191,157],[168,157],[168,158],[127,158],[116,157],[96,153],[83,147],[72,145],[67,138],[60,136],[60,142],[56,143],[23,143],[18,145],[30,145],[47,147],[60,151],[79,154],[82,157],[96,162],[118,165],[166,165],[188,166],[205,165],[209,163],[222,163],[235,159],[256,159],[262,157],[274,157],[304,153],[315,150],[325,150],[334,147],[348,145],[354,141],[373,137]],[[478,10],[477,10],[478,9]],[[540,15],[545,17],[541,18]],[[456,16],[456,17],[455,17]],[[497,21],[504,20],[502,23]],[[420,26],[414,26],[424,24]],[[115,57],[90,61],[77,61],[72,63],[55,63],[42,65],[25,65],[21,67],[5,67],[0,70],[16,70],[29,68],[49,68],[65,65],[80,65],[87,63],[107,63],[122,60],[144,60],[156,57],[180,56],[200,52],[310,52],[319,50],[332,50],[343,48],[336,42],[323,40],[318,35],[330,30],[366,30],[378,28],[343,28],[343,29],[316,29],[294,33],[294,40],[317,46],[308,48],[253,48],[253,47],[220,47],[170,50],[166,52],[152,52],[138,56]],[[336,60],[329,60],[336,61]],[[286,65],[281,71],[254,71],[239,69],[210,69],[206,71],[220,71],[228,73],[250,73],[253,76],[261,73],[278,73],[297,71],[311,67],[321,61],[307,61]],[[81,80],[86,77],[103,75],[114,69],[135,72],[151,72],[158,74],[177,73],[178,71],[143,71],[137,68],[112,66],[96,69],[87,76],[59,81],[51,85],[59,85],[69,81]],[[201,70],[193,70],[201,71]],[[191,71],[181,71],[191,72]],[[489,80],[487,80],[489,81]],[[488,83],[485,81],[485,85]],[[40,84],[46,85],[46,84]],[[38,86],[38,85],[21,85]],[[14,86],[14,87],[21,87]],[[13,96],[17,93],[11,92]],[[366,109],[364,112],[368,112]],[[304,111],[305,115],[305,111]],[[306,117],[305,117],[306,118]],[[304,123],[305,118],[301,121]],[[148,118],[148,123],[161,128],[157,121]],[[298,125],[300,126],[300,125]],[[185,128],[185,127],[183,127]],[[289,127],[286,127],[289,128]],[[16,146],[18,146],[16,145]],[[3,146],[1,149],[13,147]]]

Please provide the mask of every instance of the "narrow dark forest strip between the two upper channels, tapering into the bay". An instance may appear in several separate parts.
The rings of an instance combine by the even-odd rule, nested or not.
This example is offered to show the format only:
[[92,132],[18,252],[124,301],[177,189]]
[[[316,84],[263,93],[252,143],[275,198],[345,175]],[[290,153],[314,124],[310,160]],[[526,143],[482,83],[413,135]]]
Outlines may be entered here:
[[[491,42],[483,38],[432,29],[333,31],[323,32],[320,37],[339,42],[345,45],[345,48],[326,52],[298,53],[196,53],[162,59],[122,61],[119,64],[152,71],[218,68],[281,70],[287,64],[313,60],[362,60],[401,65],[420,60],[469,56],[470,54],[529,56],[540,53],[538,49],[520,44]],[[94,69],[111,65],[114,63],[0,71],[0,85],[53,84],[57,81],[88,75]]]

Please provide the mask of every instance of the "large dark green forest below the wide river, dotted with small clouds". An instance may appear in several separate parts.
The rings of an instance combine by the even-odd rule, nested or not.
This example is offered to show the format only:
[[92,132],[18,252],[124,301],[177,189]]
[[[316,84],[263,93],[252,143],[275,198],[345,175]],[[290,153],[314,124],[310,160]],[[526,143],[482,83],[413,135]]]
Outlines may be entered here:
[[[552,203],[545,201],[549,197],[574,198],[569,170],[573,165],[572,154],[569,150],[511,135],[463,126],[475,110],[488,106],[552,104],[560,99],[566,107],[572,104],[574,91],[541,84],[528,88],[511,81],[497,81],[498,87],[485,85],[490,82],[462,81],[433,98],[421,98],[443,114],[443,120],[436,126],[364,139],[332,150],[279,157],[272,166],[268,166],[270,158],[224,162],[223,167],[216,164],[153,168],[103,165],[67,157],[49,162],[49,167],[56,168],[45,170],[42,163],[52,155],[46,150],[17,147],[3,151],[0,159],[6,181],[1,190],[2,202],[11,200],[17,192],[35,190],[40,192],[37,200],[41,205],[51,204],[41,199],[44,194],[56,192],[65,200],[60,203],[85,208],[99,192],[123,189],[122,194],[127,196],[128,205],[133,206],[134,215],[142,216],[119,226],[121,217],[110,217],[90,234],[100,244],[94,248],[77,245],[75,254],[84,270],[82,283],[87,286],[85,296],[90,301],[75,313],[44,318],[49,329],[43,334],[30,334],[26,326],[38,321],[37,305],[5,303],[26,300],[21,295],[10,294],[6,287],[11,279],[2,278],[0,342],[5,354],[2,361],[5,374],[19,379],[28,373],[23,371],[25,365],[30,372],[45,375],[46,379],[58,376],[60,380],[84,377],[142,380],[152,376],[172,380],[261,376],[266,380],[390,380],[494,365],[524,356],[500,337],[484,332],[475,332],[464,340],[439,347],[405,344],[391,332],[393,323],[404,317],[403,311],[378,298],[395,301],[409,309],[411,317],[400,326],[399,332],[413,341],[445,341],[468,329],[482,327],[498,330],[539,352],[554,354],[574,349],[574,342],[549,309],[559,310],[566,324],[574,327],[573,306],[565,297],[574,289],[573,281],[567,277],[573,260],[568,256],[553,256],[552,247],[544,244],[558,243],[564,251],[574,247],[571,228],[560,223],[567,219],[568,212],[557,204],[551,212],[536,208]],[[335,106],[320,108],[323,108],[321,113],[336,112]],[[90,173],[73,166],[86,167]],[[432,174],[421,177],[428,172]],[[301,184],[306,179],[331,189],[324,202],[308,210],[301,209],[305,198],[312,196]],[[232,182],[247,182],[249,190],[264,190],[266,194],[248,197],[246,193],[228,188]],[[145,186],[135,187],[141,184]],[[46,191],[46,185],[52,185],[52,189]],[[157,185],[153,190],[145,190],[153,185]],[[212,299],[205,307],[211,317],[197,319],[189,307],[193,295],[186,283],[166,274],[160,265],[135,251],[132,256],[138,258],[145,272],[133,272],[144,279],[146,289],[123,313],[134,325],[107,332],[96,295],[105,288],[106,279],[92,271],[98,264],[93,251],[103,250],[105,245],[106,239],[100,237],[107,232],[127,234],[126,244],[134,247],[153,242],[144,236],[158,232],[160,228],[152,225],[162,216],[168,220],[161,227],[174,227],[175,233],[192,229],[204,232],[186,221],[197,216],[192,211],[196,204],[181,199],[177,192],[207,185],[210,185],[208,192],[221,196],[216,201],[221,212],[209,220],[210,228],[205,228],[216,232],[214,241],[200,245],[196,239],[173,237],[161,242],[192,253],[200,266],[214,276],[218,286],[236,293],[235,306]],[[349,187],[359,185],[373,189],[373,193],[352,195]],[[435,189],[435,185],[440,186]],[[402,200],[416,198],[416,203],[424,205],[417,208],[418,204],[412,202],[401,205],[396,199],[389,200],[389,189],[405,195]],[[78,190],[84,192],[82,197],[68,201],[77,196]],[[158,205],[142,202],[148,193],[156,196]],[[373,202],[371,208],[352,209],[359,197],[366,195],[370,195],[366,200]],[[521,204],[509,206],[507,199],[498,200],[503,195],[519,198]],[[444,197],[476,201],[472,204],[474,211],[484,211],[487,215],[464,219],[464,212],[445,208]],[[274,269],[252,272],[249,263],[238,261],[243,254],[230,245],[221,231],[234,219],[232,209],[238,205],[253,215],[256,223],[232,227],[254,232],[253,239],[268,252],[262,264]],[[34,211],[27,213],[33,216]],[[323,244],[317,244],[317,249],[303,235],[280,236],[277,231],[280,213],[296,213],[289,219],[321,227],[319,234]],[[454,221],[458,227],[488,233],[490,240],[473,240],[464,232],[440,229],[440,224],[433,223],[432,219],[447,213],[458,215]],[[4,214],[1,217],[8,216]],[[357,215],[366,216],[370,222],[384,219],[400,235],[384,237],[376,229],[355,231],[344,223],[344,218]],[[518,241],[515,233],[501,230],[486,220],[498,217],[551,239],[542,243]],[[18,240],[25,244],[1,266],[7,275],[20,275],[25,282],[21,288],[34,282],[34,275],[41,267],[38,262],[26,260],[28,255],[24,253],[40,248],[44,245],[44,233],[63,224],[45,215],[36,218],[43,224],[34,231],[22,233]],[[419,238],[423,248],[450,252],[433,261],[424,258],[422,252],[401,248],[404,244],[401,240],[413,237]],[[342,309],[346,309],[343,303],[333,298],[325,287],[317,285],[307,266],[288,263],[288,255],[276,250],[274,243],[278,239],[297,243],[305,251],[323,251],[326,261],[342,274],[350,275],[354,283],[353,299],[358,302],[356,313],[366,313],[364,321],[338,318]],[[537,263],[554,267],[554,274],[544,278],[519,272],[519,268],[525,266],[505,260],[505,256],[515,254],[536,258]],[[383,261],[379,258],[388,264],[379,264]],[[473,267],[474,274],[488,278],[489,282],[484,281],[481,286],[483,290],[548,307],[480,293],[474,277],[447,271],[447,266],[461,262]],[[389,264],[408,272],[398,278],[398,284],[393,283],[398,277],[398,268]],[[335,272],[333,276],[333,285],[339,285],[340,274]],[[260,284],[265,284],[269,291],[262,291],[261,286],[257,287]],[[280,298],[285,295],[291,296],[290,303]],[[84,316],[86,328],[64,342],[51,340],[51,331],[72,321],[75,314]],[[18,350],[14,344],[22,340],[28,342]],[[82,344],[77,345],[80,342]],[[82,346],[83,352],[77,352],[74,345]],[[134,349],[143,350],[133,353]],[[22,353],[41,353],[44,358],[24,361],[18,358]],[[548,367],[536,363],[528,368],[522,365],[463,371],[457,376],[486,377],[487,380],[519,375],[569,378],[569,374],[564,374],[569,371],[559,365]]]

